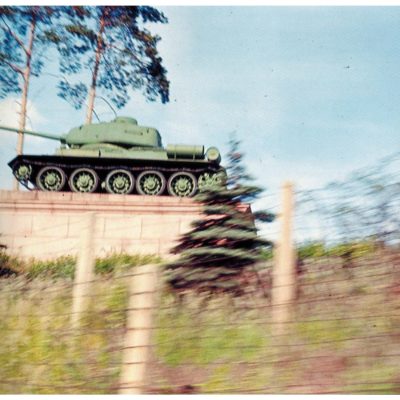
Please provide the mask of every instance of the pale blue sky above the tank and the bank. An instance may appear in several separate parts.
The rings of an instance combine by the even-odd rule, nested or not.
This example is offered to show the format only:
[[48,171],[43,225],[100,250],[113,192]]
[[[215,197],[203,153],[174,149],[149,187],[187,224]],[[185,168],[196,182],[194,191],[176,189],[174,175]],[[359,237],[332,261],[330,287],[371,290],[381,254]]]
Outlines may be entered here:
[[[156,127],[164,144],[215,145],[231,132],[245,162],[270,193],[285,180],[312,189],[400,149],[399,7],[159,7],[153,26],[171,81],[171,102],[133,93],[119,115]],[[51,64],[51,61],[50,65]],[[31,90],[31,128],[63,133],[85,110],[56,97],[55,79]],[[16,120],[13,98],[0,124]],[[103,120],[113,113],[101,101]],[[1,132],[0,188],[16,135]],[[25,153],[51,154],[57,143],[27,138]]]

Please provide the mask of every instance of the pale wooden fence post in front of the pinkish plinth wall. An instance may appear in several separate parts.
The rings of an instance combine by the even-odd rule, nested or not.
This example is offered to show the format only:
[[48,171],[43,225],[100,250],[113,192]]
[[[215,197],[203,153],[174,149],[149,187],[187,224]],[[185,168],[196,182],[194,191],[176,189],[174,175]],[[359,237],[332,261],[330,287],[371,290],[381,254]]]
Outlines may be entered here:
[[85,226],[81,232],[81,248],[75,269],[74,287],[72,290],[72,315],[73,329],[79,328],[82,313],[89,304],[90,286],[94,276],[93,233],[95,213],[86,214]]

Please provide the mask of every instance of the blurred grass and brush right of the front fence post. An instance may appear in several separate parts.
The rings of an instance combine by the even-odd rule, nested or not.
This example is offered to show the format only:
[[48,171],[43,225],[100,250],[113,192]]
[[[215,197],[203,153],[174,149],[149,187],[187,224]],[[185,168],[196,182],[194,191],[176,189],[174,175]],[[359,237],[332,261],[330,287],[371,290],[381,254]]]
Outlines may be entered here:
[[192,384],[200,393],[400,393],[396,258],[358,246],[352,268],[343,268],[339,246],[321,257],[318,246],[310,258],[304,254],[283,336],[273,337],[261,293],[231,303],[164,297],[153,385]]

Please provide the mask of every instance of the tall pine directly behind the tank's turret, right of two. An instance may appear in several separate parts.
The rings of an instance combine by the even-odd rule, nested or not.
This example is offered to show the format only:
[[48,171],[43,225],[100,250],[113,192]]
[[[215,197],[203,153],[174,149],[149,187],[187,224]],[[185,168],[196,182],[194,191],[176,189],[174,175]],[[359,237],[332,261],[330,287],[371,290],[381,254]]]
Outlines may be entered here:
[[59,96],[76,109],[87,100],[86,123],[91,123],[97,92],[117,107],[129,100],[128,89],[142,90],[145,97],[169,101],[169,81],[157,44],[144,25],[166,23],[163,13],[148,6],[79,7],[81,19],[70,20],[62,34],[53,37],[61,54],[65,76],[90,71],[90,83],[62,79]]

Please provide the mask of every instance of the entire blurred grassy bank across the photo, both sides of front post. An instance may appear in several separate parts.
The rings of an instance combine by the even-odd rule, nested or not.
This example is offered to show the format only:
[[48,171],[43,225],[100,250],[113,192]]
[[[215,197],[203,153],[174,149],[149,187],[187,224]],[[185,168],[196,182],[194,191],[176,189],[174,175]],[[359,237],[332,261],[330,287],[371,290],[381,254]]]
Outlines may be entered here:
[[[96,260],[92,301],[81,330],[73,332],[75,260],[6,260],[20,275],[0,280],[0,393],[116,393],[126,272],[154,261],[124,254]],[[271,306],[261,294],[179,301],[162,291],[151,391],[194,385],[200,393],[400,393],[400,356],[390,356],[398,353],[400,327],[394,263],[369,253],[352,269],[327,256],[306,260],[287,334],[278,337],[271,335]]]

